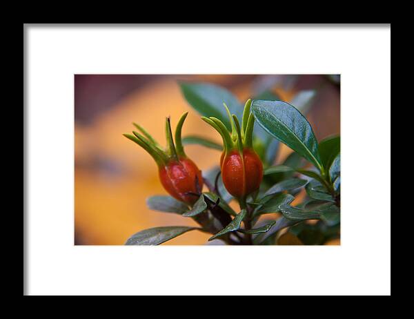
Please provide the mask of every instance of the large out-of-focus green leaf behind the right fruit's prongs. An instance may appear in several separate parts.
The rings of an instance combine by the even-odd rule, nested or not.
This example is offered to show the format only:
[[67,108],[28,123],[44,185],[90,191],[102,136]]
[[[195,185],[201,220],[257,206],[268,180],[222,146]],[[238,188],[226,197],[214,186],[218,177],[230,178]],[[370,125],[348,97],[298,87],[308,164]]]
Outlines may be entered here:
[[217,117],[231,129],[230,119],[223,106],[227,104],[230,113],[242,118],[243,107],[237,98],[221,86],[209,83],[180,82],[179,86],[184,97],[197,112],[206,117]]

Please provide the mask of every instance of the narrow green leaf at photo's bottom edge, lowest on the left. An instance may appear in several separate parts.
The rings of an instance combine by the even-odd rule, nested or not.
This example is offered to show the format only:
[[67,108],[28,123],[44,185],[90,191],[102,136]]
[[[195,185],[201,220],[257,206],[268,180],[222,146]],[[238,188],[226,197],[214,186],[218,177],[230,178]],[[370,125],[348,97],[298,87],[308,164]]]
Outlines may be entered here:
[[145,229],[132,235],[126,241],[126,245],[159,245],[177,236],[193,231],[197,227],[188,226],[164,226]]

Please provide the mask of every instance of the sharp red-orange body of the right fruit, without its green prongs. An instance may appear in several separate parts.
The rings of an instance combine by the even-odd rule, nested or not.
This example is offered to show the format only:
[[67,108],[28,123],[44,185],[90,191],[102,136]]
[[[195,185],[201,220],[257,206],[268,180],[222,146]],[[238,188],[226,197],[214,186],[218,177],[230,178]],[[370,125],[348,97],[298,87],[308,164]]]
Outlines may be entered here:
[[263,179],[263,164],[250,148],[244,148],[242,155],[234,150],[227,156],[221,156],[221,175],[228,193],[242,198],[259,189]]

